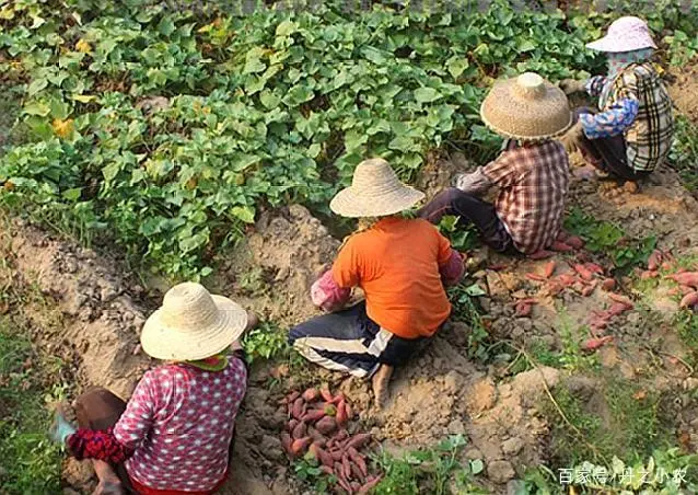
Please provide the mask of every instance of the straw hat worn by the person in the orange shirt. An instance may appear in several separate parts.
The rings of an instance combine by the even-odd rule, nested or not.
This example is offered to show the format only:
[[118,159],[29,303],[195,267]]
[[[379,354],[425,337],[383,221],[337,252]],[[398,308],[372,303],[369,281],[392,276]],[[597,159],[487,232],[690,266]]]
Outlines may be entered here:
[[423,197],[423,193],[403,184],[385,160],[372,158],[357,165],[351,186],[337,193],[329,208],[342,217],[386,217],[415,206]]

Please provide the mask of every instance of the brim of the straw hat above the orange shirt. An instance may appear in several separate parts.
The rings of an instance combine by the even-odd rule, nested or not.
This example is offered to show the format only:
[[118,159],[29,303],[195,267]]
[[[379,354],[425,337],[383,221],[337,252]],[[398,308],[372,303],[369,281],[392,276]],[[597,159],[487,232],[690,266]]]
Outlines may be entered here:
[[340,191],[329,203],[329,209],[348,218],[386,217],[411,208],[424,198],[424,193],[409,186],[381,196],[369,197],[353,187]]

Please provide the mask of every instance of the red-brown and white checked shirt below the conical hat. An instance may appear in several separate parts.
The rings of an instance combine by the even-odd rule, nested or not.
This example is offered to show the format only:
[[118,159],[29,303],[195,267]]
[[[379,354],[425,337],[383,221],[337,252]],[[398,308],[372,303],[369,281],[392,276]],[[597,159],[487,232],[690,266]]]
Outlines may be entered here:
[[501,189],[497,215],[519,251],[535,253],[555,242],[569,184],[568,156],[559,141],[509,141],[482,173]]

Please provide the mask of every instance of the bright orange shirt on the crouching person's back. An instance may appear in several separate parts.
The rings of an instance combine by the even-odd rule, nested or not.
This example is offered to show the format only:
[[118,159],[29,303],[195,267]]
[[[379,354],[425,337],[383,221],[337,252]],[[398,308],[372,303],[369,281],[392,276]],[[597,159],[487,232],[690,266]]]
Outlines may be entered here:
[[342,287],[361,286],[369,316],[384,329],[430,336],[451,312],[439,272],[450,254],[428,221],[388,217],[348,240],[333,275]]

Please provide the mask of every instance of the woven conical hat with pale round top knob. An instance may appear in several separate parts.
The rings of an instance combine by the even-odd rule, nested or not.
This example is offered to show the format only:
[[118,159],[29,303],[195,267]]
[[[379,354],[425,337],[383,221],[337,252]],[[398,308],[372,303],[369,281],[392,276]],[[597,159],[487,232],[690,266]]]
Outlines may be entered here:
[[534,72],[496,82],[480,117],[496,133],[528,141],[554,138],[572,125],[565,92]]

